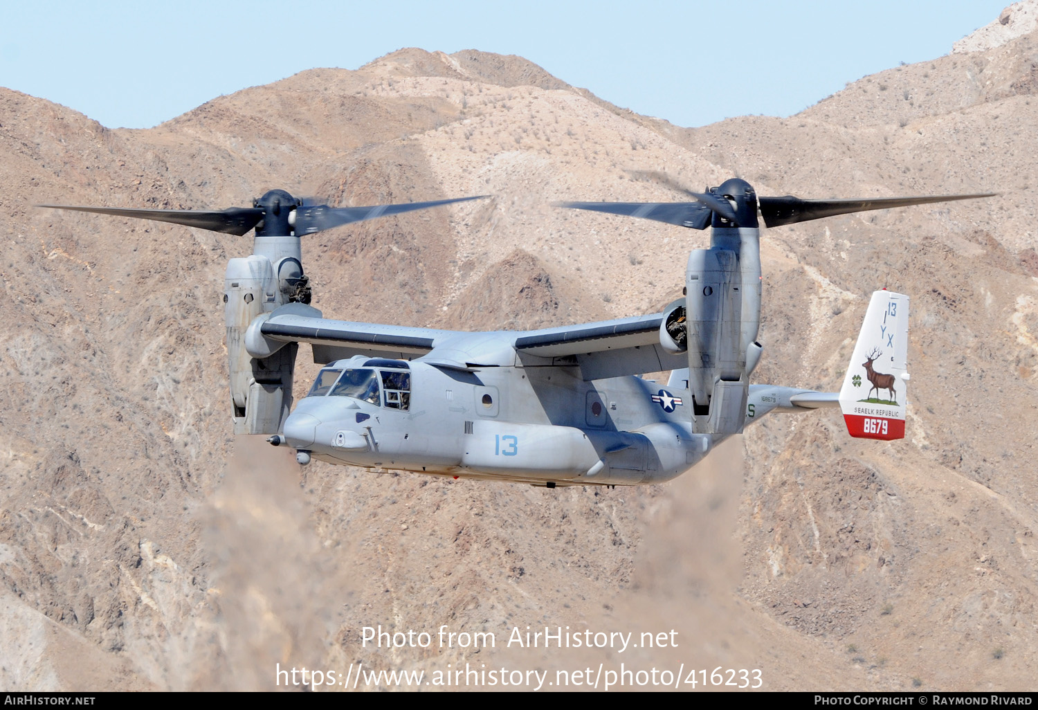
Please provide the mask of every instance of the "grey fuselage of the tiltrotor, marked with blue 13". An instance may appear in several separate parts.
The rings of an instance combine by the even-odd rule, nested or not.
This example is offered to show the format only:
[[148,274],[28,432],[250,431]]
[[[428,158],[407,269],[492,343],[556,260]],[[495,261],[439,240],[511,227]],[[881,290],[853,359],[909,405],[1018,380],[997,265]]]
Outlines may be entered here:
[[[324,388],[285,421],[284,438],[337,464],[634,485],[680,475],[718,440],[692,433],[687,388],[637,377],[585,382],[575,365],[461,370],[356,356],[326,365],[322,378]],[[348,380],[375,381],[380,392]]]

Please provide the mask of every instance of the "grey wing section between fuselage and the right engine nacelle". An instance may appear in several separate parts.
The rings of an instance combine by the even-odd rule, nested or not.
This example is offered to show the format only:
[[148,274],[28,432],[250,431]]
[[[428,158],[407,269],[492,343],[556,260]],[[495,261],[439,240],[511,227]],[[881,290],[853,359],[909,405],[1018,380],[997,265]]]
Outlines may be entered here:
[[687,356],[660,347],[662,321],[663,313],[654,313],[534,330],[517,337],[515,348],[520,355],[576,357],[584,380],[687,367]]

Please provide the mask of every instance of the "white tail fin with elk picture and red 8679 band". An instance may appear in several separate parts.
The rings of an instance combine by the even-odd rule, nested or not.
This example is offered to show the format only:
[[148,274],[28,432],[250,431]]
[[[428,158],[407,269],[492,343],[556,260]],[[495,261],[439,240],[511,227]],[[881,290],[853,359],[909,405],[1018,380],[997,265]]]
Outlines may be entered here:
[[863,439],[903,439],[908,404],[908,297],[872,294],[840,389],[847,431]]

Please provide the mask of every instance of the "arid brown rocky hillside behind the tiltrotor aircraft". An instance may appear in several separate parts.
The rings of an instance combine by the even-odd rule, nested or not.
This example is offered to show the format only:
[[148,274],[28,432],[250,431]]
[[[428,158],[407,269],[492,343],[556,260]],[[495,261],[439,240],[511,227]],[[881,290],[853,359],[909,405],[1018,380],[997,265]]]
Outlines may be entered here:
[[[1036,7],[795,116],[701,129],[476,51],[303,72],[146,131],[0,88],[0,685],[601,662],[759,668],[778,690],[1034,689]],[[301,467],[230,433],[223,270],[248,237],[32,207],[491,194],[309,237],[304,265],[329,318],[519,329],[655,312],[708,239],[551,202],[682,200],[668,183],[733,175],[762,195],[999,193],[762,238],[758,382],[839,388],[869,294],[911,296],[904,440],[772,415],[671,484],[616,490]],[[297,397],[317,372],[299,359]],[[498,643],[362,645],[379,625]],[[502,648],[526,626],[678,646]]]

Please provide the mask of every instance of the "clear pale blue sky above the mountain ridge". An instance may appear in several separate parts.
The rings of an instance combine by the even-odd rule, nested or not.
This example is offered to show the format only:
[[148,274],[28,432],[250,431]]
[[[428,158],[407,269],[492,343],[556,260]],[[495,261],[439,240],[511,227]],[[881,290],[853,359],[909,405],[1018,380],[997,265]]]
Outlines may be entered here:
[[109,128],[402,47],[518,54],[619,106],[703,126],[786,116],[883,69],[948,54],[1009,0],[0,0],[0,86]]

